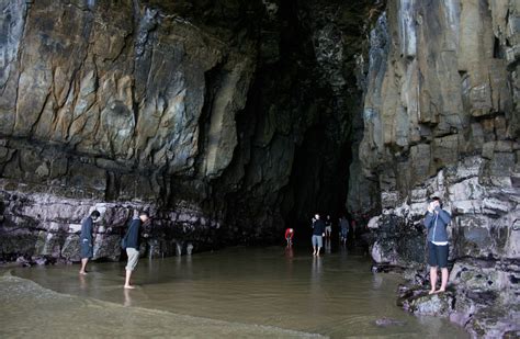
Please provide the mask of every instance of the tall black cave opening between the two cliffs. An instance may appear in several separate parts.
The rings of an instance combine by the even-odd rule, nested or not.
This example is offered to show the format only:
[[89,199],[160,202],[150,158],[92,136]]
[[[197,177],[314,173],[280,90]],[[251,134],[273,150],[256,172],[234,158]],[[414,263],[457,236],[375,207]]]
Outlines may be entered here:
[[[369,4],[353,9],[336,1],[282,2],[275,20],[250,23],[248,30],[256,33],[249,34],[257,34],[259,42],[256,74],[247,105],[236,116],[238,149],[215,190],[228,192],[226,219],[238,229],[272,217],[272,226],[257,226],[263,231],[244,230],[249,239],[245,242],[279,241],[281,227],[306,233],[315,212],[330,214],[335,225],[341,214],[348,214],[349,167],[355,147],[352,128],[362,93],[353,58],[362,49],[364,29],[357,19],[363,18]],[[317,37],[316,32],[327,25],[335,26],[327,31],[330,36]],[[338,36],[341,44],[349,44],[342,47],[344,56],[320,64],[317,39],[334,44]],[[344,82],[330,80],[338,77]],[[275,146],[281,138],[292,140],[284,150]],[[293,152],[289,176],[274,177],[280,181],[273,183],[265,173],[275,170],[257,159],[265,161],[285,151]],[[241,185],[229,192],[230,178],[241,172]]]

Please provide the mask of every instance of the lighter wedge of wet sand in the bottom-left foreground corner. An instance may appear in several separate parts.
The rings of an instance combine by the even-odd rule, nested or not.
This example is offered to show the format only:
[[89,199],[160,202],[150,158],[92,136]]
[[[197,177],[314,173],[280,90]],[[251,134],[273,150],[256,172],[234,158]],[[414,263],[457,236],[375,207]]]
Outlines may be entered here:
[[8,274],[0,291],[2,338],[318,338],[59,294]]

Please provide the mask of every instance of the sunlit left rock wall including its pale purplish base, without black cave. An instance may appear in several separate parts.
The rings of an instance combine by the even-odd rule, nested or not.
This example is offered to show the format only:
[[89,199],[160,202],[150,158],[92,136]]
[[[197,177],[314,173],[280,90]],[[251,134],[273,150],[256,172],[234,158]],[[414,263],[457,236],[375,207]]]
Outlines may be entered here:
[[206,221],[223,219],[204,205],[204,181],[231,161],[256,67],[251,41],[234,45],[137,1],[1,7],[2,253],[75,259],[76,224],[94,206],[105,212],[95,258],[118,258],[110,235],[133,208],[184,236],[186,225],[203,234]]

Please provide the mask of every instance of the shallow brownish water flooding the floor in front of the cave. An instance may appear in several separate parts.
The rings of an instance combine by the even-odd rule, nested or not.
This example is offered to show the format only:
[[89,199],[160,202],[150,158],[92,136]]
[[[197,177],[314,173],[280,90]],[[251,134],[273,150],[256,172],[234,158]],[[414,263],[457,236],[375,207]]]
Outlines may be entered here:
[[[99,321],[125,318],[123,315],[132,310],[136,318],[150,318],[146,325],[134,328],[136,336],[154,335],[150,329],[157,327],[152,325],[157,318],[161,328],[170,319],[174,329],[170,335],[181,337],[289,338],[319,334],[331,338],[468,338],[444,319],[418,318],[402,310],[395,304],[400,276],[373,274],[370,265],[368,257],[344,248],[320,258],[310,256],[307,248],[231,248],[192,257],[142,259],[134,273],[133,280],[138,285],[134,291],[122,289],[123,262],[92,263],[87,276],[78,275],[78,265],[11,271],[13,275],[61,293],[49,297],[54,305],[49,317],[59,318],[58,314],[70,309],[91,327],[99,327]],[[9,285],[4,280],[0,283],[2,295]],[[29,297],[22,300],[22,306],[39,297],[37,289],[31,291]],[[2,298],[5,296],[0,297],[3,315]],[[102,308],[106,313],[101,320],[92,317],[91,305],[98,305],[98,301],[104,302]],[[88,307],[79,307],[81,305]],[[11,312],[7,319],[3,317],[0,321],[7,323],[0,323],[0,334],[4,326],[9,327],[9,318],[19,317],[24,317],[23,312]],[[375,320],[382,317],[405,324],[378,327]],[[57,321],[58,325],[49,323],[47,326],[59,327],[60,320]],[[63,321],[67,321],[67,317]],[[68,326],[70,328],[70,324]],[[106,330],[123,336],[125,332],[120,327],[109,326]],[[233,332],[223,332],[224,329]],[[169,335],[156,332],[154,336]]]

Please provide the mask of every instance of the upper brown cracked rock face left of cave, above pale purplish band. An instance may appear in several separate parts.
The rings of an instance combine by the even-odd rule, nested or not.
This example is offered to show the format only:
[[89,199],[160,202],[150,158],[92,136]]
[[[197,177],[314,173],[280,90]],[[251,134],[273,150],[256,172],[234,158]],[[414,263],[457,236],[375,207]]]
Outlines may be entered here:
[[[165,174],[218,174],[236,146],[233,120],[245,106],[255,50],[132,1],[93,5],[7,2],[5,24],[23,32],[2,45],[3,178],[47,184],[79,172],[77,181],[99,181],[84,185],[91,194],[113,199],[137,180],[139,197],[155,199]],[[221,80],[211,102],[208,74]],[[204,105],[214,112],[207,135]],[[77,159],[29,149],[38,142]],[[149,173],[127,174],[135,169]]]

